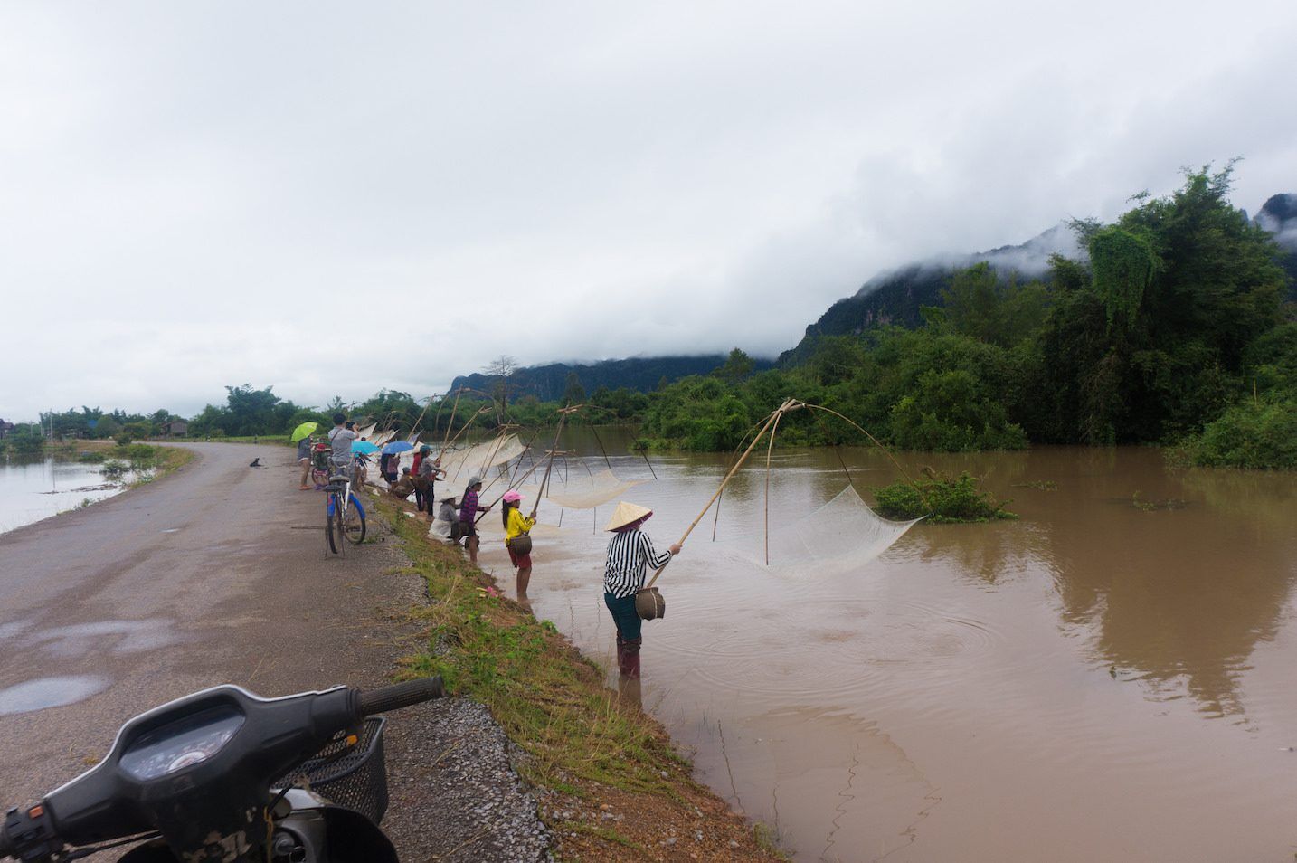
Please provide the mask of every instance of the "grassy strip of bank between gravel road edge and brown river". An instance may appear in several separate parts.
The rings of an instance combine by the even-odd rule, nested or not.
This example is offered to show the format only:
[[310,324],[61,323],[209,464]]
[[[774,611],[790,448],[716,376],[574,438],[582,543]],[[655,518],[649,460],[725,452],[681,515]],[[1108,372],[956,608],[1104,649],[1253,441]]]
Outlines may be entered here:
[[396,501],[376,510],[428,587],[428,605],[415,611],[427,646],[403,661],[403,676],[441,675],[449,692],[490,709],[525,753],[516,768],[541,789],[559,859],[783,859],[764,827],[747,825],[694,781],[663,727],[619,702],[604,671],[551,622],[488,590],[489,575],[429,541],[427,524]]

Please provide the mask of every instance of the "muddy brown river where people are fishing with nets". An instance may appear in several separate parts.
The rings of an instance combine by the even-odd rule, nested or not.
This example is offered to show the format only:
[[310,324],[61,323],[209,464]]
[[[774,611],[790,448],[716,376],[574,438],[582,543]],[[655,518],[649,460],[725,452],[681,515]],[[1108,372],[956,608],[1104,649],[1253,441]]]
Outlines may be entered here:
[[[588,436],[565,446],[603,466]],[[877,453],[844,456],[866,498],[896,479]],[[1134,448],[900,458],[983,476],[1021,520],[920,523],[879,558],[821,572],[739,562],[711,544],[708,515],[661,576],[667,616],[646,624],[626,696],[699,777],[796,860],[1291,862],[1297,476],[1171,471]],[[639,457],[611,461],[651,479]],[[659,548],[724,468],[652,458],[656,481],[626,498],[655,510]],[[833,450],[777,452],[772,526],[846,484]],[[719,539],[759,531],[763,491],[763,471],[735,480]],[[611,510],[537,532],[530,600],[616,687]],[[511,590],[502,546],[482,561]]]

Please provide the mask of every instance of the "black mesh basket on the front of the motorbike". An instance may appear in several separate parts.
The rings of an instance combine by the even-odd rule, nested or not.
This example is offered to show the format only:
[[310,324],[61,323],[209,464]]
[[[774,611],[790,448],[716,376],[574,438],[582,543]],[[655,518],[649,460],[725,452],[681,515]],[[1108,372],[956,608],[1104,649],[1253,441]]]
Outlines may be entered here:
[[272,788],[309,788],[379,824],[388,811],[388,764],[383,755],[383,727],[387,722],[383,716],[370,716],[364,720],[359,742],[345,755],[339,757],[345,741],[335,740],[272,783]]

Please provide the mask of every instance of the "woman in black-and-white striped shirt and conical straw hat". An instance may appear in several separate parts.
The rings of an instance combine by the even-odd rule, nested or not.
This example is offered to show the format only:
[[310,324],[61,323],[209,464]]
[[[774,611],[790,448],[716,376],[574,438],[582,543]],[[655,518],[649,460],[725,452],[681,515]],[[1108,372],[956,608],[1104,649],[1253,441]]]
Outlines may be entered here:
[[606,531],[613,533],[608,541],[608,562],[603,570],[603,603],[617,627],[617,670],[625,677],[639,676],[639,648],[642,620],[636,614],[636,590],[645,585],[647,567],[659,568],[676,554],[680,545],[672,545],[658,554],[648,535],[639,526],[648,520],[652,510],[621,501],[612,513]]

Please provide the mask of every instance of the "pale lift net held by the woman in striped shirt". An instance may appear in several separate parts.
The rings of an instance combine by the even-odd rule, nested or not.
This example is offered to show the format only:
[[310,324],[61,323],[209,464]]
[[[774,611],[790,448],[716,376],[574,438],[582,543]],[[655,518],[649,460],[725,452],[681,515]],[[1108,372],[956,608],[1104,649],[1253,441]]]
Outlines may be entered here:
[[[769,566],[796,574],[856,570],[886,552],[922,519],[892,522],[869,509],[851,485],[837,497],[782,527],[770,528]],[[765,563],[765,536],[726,541],[739,557]]]

